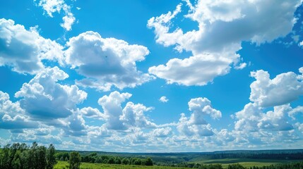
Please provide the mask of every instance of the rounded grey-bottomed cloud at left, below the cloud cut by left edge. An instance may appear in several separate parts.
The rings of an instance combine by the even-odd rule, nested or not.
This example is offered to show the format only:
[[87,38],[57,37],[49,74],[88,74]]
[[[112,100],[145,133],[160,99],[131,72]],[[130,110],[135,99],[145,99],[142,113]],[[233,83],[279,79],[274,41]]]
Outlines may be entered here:
[[54,120],[66,118],[76,110],[76,104],[86,99],[87,94],[76,85],[61,85],[69,75],[58,67],[45,68],[16,92],[20,106],[34,119]]

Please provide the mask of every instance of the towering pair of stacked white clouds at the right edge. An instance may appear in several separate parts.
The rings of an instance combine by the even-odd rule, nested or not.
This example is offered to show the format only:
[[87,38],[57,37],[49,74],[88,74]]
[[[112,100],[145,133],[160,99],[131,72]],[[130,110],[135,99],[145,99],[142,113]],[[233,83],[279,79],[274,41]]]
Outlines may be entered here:
[[[299,72],[302,73],[302,68]],[[271,80],[268,72],[258,70],[251,72],[251,77],[256,79],[250,85],[249,99],[253,103],[246,104],[242,111],[235,113],[235,130],[292,130],[291,119],[295,120],[295,114],[302,111],[302,106],[292,108],[290,102],[303,95],[302,75],[281,73]],[[270,107],[273,111],[263,113]]]

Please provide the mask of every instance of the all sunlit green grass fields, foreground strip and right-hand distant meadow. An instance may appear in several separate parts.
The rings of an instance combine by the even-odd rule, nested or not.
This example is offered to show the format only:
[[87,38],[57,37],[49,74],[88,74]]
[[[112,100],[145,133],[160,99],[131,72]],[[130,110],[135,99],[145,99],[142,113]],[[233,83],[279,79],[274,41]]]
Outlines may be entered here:
[[[287,161],[287,160],[262,160],[262,159],[245,159],[245,158],[225,158],[225,159],[215,159],[215,160],[204,160],[204,161],[195,161],[195,163],[203,164],[222,164],[223,168],[227,168],[228,165],[232,163],[239,163],[246,168],[252,166],[265,166],[265,165],[274,165],[278,163],[292,163],[297,161]],[[54,169],[68,168],[68,163],[66,161],[58,161]],[[174,167],[164,167],[164,166],[143,166],[143,165],[117,165],[117,164],[101,164],[101,163],[81,163],[81,169],[188,169],[188,168],[174,168]]]

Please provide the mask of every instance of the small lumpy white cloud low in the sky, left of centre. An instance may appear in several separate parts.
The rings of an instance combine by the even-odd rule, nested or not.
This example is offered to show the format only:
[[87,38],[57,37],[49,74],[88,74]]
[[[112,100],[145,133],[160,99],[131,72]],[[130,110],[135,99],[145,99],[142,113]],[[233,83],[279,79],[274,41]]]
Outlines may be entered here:
[[144,112],[150,111],[152,108],[147,108],[143,104],[133,104],[131,101],[126,103],[124,108],[121,107],[126,99],[129,99],[131,94],[112,92],[109,96],[102,96],[98,100],[100,106],[107,116],[106,125],[110,130],[126,130],[130,127],[156,127],[145,117]]

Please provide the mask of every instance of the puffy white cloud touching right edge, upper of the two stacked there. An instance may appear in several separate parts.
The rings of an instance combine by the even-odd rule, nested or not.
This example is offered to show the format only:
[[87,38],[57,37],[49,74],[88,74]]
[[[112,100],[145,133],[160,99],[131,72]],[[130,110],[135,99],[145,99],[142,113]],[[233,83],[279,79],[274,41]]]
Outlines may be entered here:
[[[300,73],[302,68],[299,69]],[[258,70],[251,73],[256,81],[251,83],[249,99],[263,107],[290,103],[303,95],[302,75],[293,72],[281,73],[271,80],[268,72]]]

